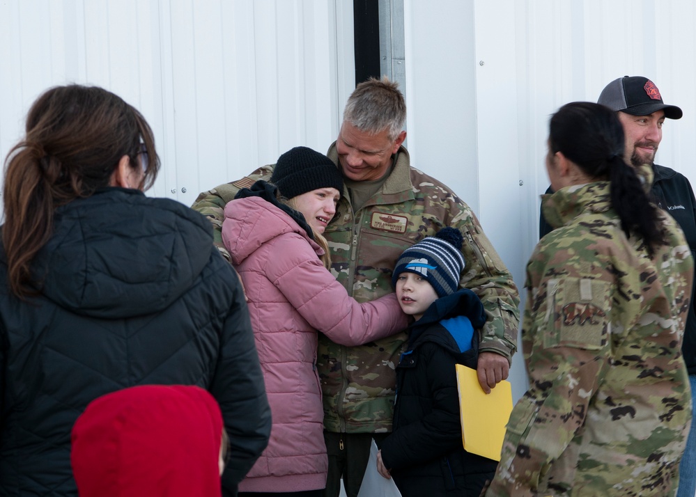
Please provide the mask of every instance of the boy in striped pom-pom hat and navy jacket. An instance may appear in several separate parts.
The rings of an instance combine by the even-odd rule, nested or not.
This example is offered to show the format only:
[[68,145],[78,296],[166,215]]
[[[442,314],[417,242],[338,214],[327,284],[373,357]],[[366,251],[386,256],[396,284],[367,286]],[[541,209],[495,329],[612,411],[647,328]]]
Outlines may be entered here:
[[378,471],[403,497],[479,496],[497,462],[464,450],[455,364],[476,369],[486,322],[474,292],[458,290],[461,232],[443,228],[406,249],[392,283],[406,314],[408,349],[396,367],[394,427],[381,443]]

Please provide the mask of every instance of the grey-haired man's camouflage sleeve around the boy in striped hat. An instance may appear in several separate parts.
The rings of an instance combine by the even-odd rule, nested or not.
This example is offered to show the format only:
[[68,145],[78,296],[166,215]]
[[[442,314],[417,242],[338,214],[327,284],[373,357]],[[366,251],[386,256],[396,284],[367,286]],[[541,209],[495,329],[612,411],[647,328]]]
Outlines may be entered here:
[[466,266],[460,285],[476,293],[486,310],[479,352],[496,352],[512,361],[520,324],[520,297],[512,274],[469,207],[452,219],[451,226],[459,228],[464,235],[462,252]]

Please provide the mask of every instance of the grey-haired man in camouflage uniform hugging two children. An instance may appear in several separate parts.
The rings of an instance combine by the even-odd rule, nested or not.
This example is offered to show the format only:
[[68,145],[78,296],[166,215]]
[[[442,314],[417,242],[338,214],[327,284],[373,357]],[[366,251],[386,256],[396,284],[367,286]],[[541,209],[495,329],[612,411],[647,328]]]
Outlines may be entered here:
[[[371,79],[348,99],[341,132],[327,152],[341,168],[346,189],[324,233],[332,273],[357,301],[382,297],[392,288],[399,255],[444,226],[463,232],[466,268],[461,285],[476,292],[488,320],[481,329],[479,381],[490,391],[505,379],[516,351],[518,293],[470,208],[444,184],[410,166],[405,139],[405,102],[396,84]],[[203,192],[193,208],[210,218],[215,242],[224,205],[242,187],[268,180],[273,166],[231,184]],[[331,312],[327,309],[327,312]],[[405,333],[359,347],[343,347],[319,335],[319,370],[325,413],[329,477],[325,495],[339,495],[340,480],[357,496],[373,436],[392,429],[395,367]]]

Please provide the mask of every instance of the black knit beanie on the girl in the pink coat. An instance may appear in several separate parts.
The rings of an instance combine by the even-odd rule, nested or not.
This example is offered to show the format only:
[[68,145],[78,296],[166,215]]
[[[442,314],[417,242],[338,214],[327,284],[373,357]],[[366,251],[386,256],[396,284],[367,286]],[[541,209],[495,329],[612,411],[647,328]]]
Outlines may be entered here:
[[295,147],[281,155],[270,181],[288,199],[319,188],[335,188],[343,194],[343,177],[336,164],[307,147]]

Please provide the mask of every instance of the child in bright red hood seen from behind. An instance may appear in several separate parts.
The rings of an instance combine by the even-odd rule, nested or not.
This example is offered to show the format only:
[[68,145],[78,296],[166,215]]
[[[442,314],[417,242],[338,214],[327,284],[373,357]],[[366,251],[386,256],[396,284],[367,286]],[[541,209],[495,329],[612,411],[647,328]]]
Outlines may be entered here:
[[197,386],[134,386],[98,397],[72,428],[80,497],[219,497],[222,414]]

